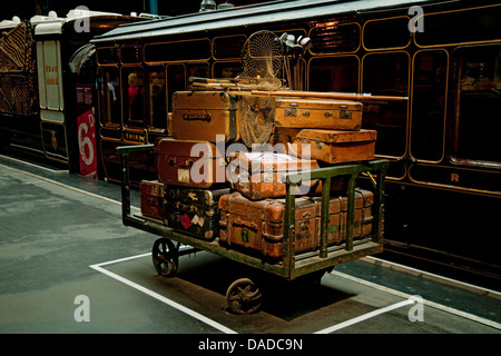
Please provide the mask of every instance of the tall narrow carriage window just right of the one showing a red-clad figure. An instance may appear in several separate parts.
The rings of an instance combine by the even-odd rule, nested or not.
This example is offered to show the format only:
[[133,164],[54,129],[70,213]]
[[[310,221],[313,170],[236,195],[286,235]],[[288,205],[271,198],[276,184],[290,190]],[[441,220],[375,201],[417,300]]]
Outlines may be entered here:
[[165,129],[167,127],[166,82],[163,67],[148,71],[149,82],[149,120],[148,127]]

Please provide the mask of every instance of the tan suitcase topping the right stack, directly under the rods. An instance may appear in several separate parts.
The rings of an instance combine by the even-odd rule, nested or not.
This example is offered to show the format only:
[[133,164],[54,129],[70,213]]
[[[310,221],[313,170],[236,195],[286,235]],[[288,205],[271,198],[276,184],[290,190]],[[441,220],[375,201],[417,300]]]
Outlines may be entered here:
[[275,126],[357,131],[362,126],[362,102],[341,99],[277,98]]

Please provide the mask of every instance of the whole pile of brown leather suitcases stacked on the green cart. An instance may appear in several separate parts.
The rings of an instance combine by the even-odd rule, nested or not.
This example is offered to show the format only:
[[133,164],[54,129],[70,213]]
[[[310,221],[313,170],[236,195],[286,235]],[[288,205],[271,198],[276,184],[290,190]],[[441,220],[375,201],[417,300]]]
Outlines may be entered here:
[[[239,142],[236,100],[224,90],[174,95],[173,136],[155,142],[158,180],[141,182],[141,212],[177,231],[279,260],[283,174],[373,159],[376,135],[361,128],[360,102],[276,98],[271,144],[284,150],[227,155],[228,146]],[[297,254],[318,248],[321,192],[317,180],[306,180],[294,191]],[[331,197],[330,245],[345,239],[346,201]],[[356,190],[354,238],[371,234],[372,202],[371,191]]]

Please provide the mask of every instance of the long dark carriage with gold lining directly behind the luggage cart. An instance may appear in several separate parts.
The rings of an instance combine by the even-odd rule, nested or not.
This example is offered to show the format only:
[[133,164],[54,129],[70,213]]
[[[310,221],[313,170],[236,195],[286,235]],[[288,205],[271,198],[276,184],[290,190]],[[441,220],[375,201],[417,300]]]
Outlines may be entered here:
[[[310,38],[292,58],[292,89],[409,97],[364,105],[387,172],[385,247],[500,281],[501,3],[497,1],[272,1],[121,26],[97,36],[101,159],[120,180],[117,146],[171,135],[175,91],[190,77],[235,78],[259,30]],[[281,75],[286,78],[286,70]],[[130,78],[141,86],[132,113]],[[102,90],[118,80],[119,99]],[[137,177],[153,158],[137,156]],[[141,170],[147,174],[141,174]],[[131,172],[132,174],[132,172]],[[134,176],[134,174],[132,174]]]

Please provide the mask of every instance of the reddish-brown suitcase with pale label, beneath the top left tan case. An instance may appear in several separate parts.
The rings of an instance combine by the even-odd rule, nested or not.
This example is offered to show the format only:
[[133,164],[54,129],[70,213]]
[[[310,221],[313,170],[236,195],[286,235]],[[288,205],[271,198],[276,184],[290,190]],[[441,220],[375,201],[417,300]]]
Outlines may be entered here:
[[227,182],[224,154],[212,142],[159,138],[155,154],[161,182],[198,188]]

